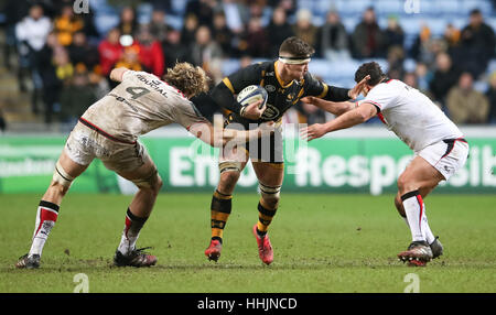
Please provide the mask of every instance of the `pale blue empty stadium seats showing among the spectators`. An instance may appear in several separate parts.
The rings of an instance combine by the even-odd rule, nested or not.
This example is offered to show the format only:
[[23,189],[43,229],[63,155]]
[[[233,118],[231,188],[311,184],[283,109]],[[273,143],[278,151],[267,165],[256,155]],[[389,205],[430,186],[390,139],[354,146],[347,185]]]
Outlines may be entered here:
[[[378,23],[381,28],[387,26],[387,19],[390,15],[398,18],[400,25],[405,31],[405,46],[409,48],[414,42],[420,28],[427,24],[434,36],[443,34],[445,26],[452,23],[455,28],[463,28],[467,23],[468,12],[473,9],[479,9],[486,22],[496,30],[496,14],[490,0],[409,0],[409,4],[418,6],[419,13],[414,10],[406,9],[406,0],[296,0],[296,9],[310,9],[313,13],[312,22],[315,25],[322,25],[330,10],[336,10],[348,33],[352,33],[355,26],[362,20],[363,12],[373,7],[376,11]],[[416,2],[417,1],[417,2]],[[183,15],[188,1],[172,0],[171,10],[166,12],[165,21],[174,29],[181,29],[183,25]],[[408,3],[407,3],[408,4]],[[95,12],[95,22],[97,30],[105,34],[110,28],[117,25],[119,21],[118,10],[110,7],[106,0],[90,0],[91,9]],[[150,19],[152,7],[143,3],[138,7],[138,20],[145,23]],[[270,22],[272,10],[267,8],[263,11],[262,25]],[[289,18],[294,22],[294,17]],[[325,59],[314,59],[310,69],[335,85],[349,86],[353,84],[353,77],[356,67],[362,61],[345,61],[339,63],[330,63]],[[381,66],[387,69],[387,62],[379,61]],[[407,59],[405,62],[407,70],[413,70],[416,62]],[[225,74],[231,73],[239,67],[237,59],[227,59],[223,64]],[[493,61],[487,69],[487,74],[496,70],[496,61]],[[477,89],[487,86],[485,82],[476,83]]]

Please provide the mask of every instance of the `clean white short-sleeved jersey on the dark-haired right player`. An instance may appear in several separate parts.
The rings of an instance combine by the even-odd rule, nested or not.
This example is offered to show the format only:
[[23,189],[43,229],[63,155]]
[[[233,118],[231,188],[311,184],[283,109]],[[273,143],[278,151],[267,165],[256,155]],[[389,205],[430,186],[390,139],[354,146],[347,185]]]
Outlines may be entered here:
[[375,105],[380,120],[414,152],[444,139],[463,137],[435,104],[400,80],[376,85],[358,105],[363,102]]

